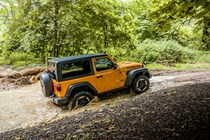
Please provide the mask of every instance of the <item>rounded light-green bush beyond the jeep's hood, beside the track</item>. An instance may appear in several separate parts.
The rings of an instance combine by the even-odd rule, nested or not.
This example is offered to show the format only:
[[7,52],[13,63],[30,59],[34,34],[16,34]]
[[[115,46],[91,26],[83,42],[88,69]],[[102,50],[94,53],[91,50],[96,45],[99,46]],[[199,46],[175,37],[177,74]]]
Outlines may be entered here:
[[153,63],[153,62],[185,62],[195,58],[196,51],[180,45],[174,40],[145,40],[136,51],[133,51],[131,58],[133,61]]

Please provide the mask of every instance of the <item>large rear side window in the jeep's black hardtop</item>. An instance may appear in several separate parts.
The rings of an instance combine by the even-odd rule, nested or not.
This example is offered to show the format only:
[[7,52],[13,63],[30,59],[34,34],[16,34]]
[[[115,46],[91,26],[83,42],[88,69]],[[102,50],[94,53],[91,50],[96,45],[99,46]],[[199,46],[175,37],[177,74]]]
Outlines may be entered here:
[[71,78],[91,73],[89,61],[65,63],[61,66],[62,78]]

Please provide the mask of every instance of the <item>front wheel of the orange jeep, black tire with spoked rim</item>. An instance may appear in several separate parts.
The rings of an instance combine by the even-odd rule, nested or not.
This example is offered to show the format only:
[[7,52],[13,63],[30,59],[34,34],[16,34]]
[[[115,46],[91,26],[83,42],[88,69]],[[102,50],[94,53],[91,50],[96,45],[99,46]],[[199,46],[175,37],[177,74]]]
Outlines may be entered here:
[[149,89],[149,86],[150,86],[150,82],[149,82],[148,77],[142,75],[142,76],[137,77],[134,80],[132,84],[132,90],[136,94],[140,94],[147,91]]

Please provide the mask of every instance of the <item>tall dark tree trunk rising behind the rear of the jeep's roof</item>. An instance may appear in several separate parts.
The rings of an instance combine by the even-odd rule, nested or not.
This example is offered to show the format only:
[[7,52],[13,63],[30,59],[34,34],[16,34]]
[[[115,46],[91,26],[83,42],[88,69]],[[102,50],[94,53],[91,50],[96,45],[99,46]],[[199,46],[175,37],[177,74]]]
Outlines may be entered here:
[[53,40],[53,57],[58,57],[58,0],[54,0],[54,40]]

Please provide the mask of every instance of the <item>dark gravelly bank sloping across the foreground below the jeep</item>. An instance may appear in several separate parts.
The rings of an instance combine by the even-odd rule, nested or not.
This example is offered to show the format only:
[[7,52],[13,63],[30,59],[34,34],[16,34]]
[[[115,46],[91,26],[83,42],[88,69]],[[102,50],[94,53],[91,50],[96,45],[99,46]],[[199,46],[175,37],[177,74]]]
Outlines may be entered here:
[[0,139],[210,139],[210,83],[144,93],[114,106],[16,129]]

